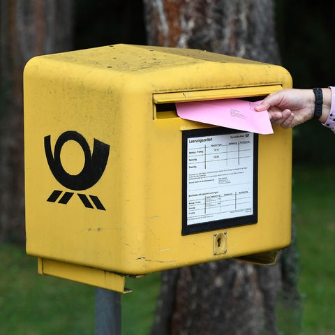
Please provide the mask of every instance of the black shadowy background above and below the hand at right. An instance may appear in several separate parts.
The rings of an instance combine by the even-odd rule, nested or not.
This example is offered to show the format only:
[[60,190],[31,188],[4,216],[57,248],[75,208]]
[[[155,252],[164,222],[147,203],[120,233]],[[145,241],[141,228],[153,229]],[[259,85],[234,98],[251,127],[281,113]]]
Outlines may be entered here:
[[[295,88],[328,87],[335,84],[335,4],[332,1],[276,0],[276,25],[282,65],[293,78]],[[295,163],[334,164],[329,149],[332,131],[318,121],[295,128]]]

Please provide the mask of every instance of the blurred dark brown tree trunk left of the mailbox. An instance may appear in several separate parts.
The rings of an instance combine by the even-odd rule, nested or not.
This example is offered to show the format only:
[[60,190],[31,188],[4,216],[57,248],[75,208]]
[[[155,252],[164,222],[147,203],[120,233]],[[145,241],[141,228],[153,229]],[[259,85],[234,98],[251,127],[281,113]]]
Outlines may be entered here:
[[70,49],[72,1],[1,0],[0,15],[0,241],[23,243],[22,71],[31,57]]

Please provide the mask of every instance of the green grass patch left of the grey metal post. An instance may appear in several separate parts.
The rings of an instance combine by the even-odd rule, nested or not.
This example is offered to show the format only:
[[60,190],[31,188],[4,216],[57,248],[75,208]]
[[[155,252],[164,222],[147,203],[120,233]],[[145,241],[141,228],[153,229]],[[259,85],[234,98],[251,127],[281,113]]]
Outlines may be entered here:
[[92,334],[92,288],[38,276],[22,248],[2,244],[0,255],[0,334]]

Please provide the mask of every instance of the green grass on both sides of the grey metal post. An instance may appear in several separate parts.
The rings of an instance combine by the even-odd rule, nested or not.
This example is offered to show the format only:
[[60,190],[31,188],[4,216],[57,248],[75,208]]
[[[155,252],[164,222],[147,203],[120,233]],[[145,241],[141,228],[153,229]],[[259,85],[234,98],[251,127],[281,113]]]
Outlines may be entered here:
[[[36,259],[17,246],[0,244],[0,257],[0,334],[94,334],[93,287],[38,275]],[[159,274],[127,278],[122,334],[149,334],[159,285]]]

